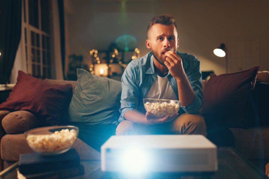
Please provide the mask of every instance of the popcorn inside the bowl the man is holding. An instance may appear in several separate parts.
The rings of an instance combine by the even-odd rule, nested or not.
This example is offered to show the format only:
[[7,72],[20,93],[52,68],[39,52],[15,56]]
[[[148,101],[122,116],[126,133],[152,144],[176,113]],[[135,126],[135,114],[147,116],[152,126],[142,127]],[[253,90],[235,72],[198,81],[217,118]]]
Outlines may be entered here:
[[163,118],[168,114],[174,115],[179,110],[179,105],[176,103],[150,103],[147,102],[144,104],[144,107],[147,111],[151,112],[152,116],[155,118]]

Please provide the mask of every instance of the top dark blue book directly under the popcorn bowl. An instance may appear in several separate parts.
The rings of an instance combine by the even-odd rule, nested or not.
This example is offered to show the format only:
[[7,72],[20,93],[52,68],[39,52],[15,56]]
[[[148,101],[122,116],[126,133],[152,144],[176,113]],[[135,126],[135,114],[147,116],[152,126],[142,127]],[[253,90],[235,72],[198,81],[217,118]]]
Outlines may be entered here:
[[44,156],[38,153],[21,154],[19,159],[19,171],[22,174],[42,173],[79,165],[80,158],[75,149],[54,156]]

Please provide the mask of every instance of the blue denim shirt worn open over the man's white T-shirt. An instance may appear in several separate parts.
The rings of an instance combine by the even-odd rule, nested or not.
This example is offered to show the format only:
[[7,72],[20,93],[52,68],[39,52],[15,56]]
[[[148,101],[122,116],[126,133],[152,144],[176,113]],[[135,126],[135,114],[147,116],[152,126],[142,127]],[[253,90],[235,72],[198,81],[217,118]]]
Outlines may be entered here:
[[[203,105],[202,97],[202,74],[200,61],[193,55],[177,51],[182,59],[183,69],[195,93],[194,100],[189,106],[181,106],[187,114],[198,114]],[[176,79],[168,72],[168,82],[178,98],[178,86]],[[145,56],[131,61],[122,75],[121,116],[118,122],[122,122],[125,112],[137,109],[144,113],[143,98],[146,96],[156,79],[153,54],[147,53]],[[178,98],[180,101],[180,99]]]

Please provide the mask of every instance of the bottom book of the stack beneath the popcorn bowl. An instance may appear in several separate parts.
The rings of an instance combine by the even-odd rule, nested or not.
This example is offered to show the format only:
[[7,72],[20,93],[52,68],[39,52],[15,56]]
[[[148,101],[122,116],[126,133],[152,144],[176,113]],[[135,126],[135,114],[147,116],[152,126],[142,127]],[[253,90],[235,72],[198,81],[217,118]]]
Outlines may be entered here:
[[80,176],[83,174],[84,174],[84,167],[82,165],[35,174],[22,174],[20,173],[19,169],[17,169],[18,179],[65,179]]

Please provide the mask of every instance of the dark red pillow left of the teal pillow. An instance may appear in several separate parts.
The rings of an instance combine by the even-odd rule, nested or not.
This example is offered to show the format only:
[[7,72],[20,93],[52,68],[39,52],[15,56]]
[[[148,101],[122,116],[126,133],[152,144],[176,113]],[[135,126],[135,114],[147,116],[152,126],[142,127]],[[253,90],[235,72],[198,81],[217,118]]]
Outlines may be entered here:
[[0,109],[30,111],[41,120],[56,125],[64,120],[72,94],[71,84],[51,85],[19,71],[17,83],[6,102],[0,104]]

